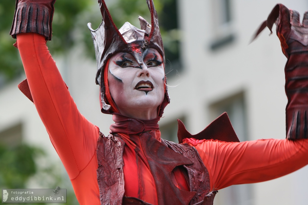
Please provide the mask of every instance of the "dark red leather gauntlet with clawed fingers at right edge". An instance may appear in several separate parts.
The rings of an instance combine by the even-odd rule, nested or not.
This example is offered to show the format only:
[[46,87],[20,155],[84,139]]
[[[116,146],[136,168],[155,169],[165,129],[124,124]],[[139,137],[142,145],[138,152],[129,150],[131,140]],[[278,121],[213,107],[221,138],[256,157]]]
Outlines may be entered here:
[[302,24],[297,11],[277,4],[268,19],[261,25],[256,36],[267,26],[276,33],[282,52],[287,57],[285,66],[286,136],[288,139],[308,138],[308,13]]

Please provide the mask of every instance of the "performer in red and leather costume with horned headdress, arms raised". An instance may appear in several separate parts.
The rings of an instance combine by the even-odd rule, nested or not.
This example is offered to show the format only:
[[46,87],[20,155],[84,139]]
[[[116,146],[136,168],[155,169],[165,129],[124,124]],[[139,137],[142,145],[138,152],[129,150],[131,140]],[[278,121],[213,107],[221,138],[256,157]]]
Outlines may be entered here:
[[301,77],[307,32],[290,21],[294,12],[278,5],[267,21],[271,28],[278,18],[277,34],[288,58],[288,139],[238,142],[223,114],[197,135],[179,122],[177,144],[161,139],[157,124],[169,97],[152,0],[147,0],[150,23],[140,17],[141,29],[126,22],[119,30],[105,2],[98,2],[103,22],[97,30],[89,27],[101,111],[115,122],[107,136],[79,113],[46,46],[55,0],[17,0],[10,32],[27,77],[19,87],[34,102],[80,204],[213,204],[219,189],[275,179],[308,163],[308,81]]

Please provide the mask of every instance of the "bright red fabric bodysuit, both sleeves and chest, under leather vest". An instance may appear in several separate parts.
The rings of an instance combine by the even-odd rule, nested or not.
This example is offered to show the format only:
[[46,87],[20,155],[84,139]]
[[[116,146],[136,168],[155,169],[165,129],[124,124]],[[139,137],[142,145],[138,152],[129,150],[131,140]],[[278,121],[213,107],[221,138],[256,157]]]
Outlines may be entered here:
[[[39,34],[17,34],[18,49],[34,105],[71,179],[80,204],[100,204],[96,169],[99,129],[83,117]],[[157,204],[156,187],[138,139],[122,136],[126,196]],[[155,138],[160,140],[160,132]],[[295,171],[308,163],[308,140],[265,139],[241,143],[184,139],[196,147],[209,171],[210,191],[233,184],[256,183]],[[138,162],[138,164],[137,164]],[[126,165],[126,166],[125,166]],[[142,175],[141,175],[142,173]],[[188,189],[175,173],[178,187]],[[136,179],[136,180],[135,180]],[[87,187],[86,189],[84,187]]]

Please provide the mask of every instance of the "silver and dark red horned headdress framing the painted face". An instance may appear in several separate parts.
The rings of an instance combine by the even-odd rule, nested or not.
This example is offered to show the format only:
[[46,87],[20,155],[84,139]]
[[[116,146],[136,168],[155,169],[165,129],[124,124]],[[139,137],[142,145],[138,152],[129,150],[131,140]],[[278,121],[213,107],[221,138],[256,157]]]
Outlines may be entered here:
[[[157,12],[152,0],[147,0],[151,13],[151,24],[144,18],[139,17],[141,29],[136,28],[129,22],[124,23],[120,29],[117,29],[104,0],[98,0],[98,2],[103,16],[102,23],[96,30],[91,28],[91,23],[88,23],[88,27],[91,31],[95,47],[97,62],[96,84],[100,86],[101,111],[103,113],[113,114],[114,110],[105,94],[106,81],[104,79],[107,76],[105,76],[106,73],[104,70],[109,58],[118,52],[128,52],[136,58],[139,64],[142,64],[143,62],[140,58],[142,51],[147,48],[155,48],[165,62],[164,47],[158,26]],[[164,102],[160,106],[159,116],[162,115],[164,107],[169,101],[166,88]]]

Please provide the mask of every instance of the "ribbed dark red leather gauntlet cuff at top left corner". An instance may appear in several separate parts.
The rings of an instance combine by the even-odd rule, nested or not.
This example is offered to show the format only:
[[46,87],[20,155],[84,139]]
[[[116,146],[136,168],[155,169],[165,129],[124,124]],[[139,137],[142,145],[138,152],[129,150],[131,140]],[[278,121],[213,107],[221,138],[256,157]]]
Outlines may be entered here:
[[15,14],[10,35],[38,33],[51,40],[51,22],[56,0],[16,0]]

